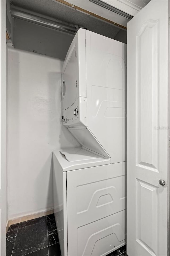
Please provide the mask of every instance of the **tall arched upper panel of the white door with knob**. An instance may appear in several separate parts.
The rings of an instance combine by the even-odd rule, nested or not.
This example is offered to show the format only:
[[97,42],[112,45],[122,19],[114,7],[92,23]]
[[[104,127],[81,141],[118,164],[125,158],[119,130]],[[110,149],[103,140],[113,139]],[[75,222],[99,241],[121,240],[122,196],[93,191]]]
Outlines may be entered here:
[[136,36],[136,78],[137,166],[159,171],[159,19]]

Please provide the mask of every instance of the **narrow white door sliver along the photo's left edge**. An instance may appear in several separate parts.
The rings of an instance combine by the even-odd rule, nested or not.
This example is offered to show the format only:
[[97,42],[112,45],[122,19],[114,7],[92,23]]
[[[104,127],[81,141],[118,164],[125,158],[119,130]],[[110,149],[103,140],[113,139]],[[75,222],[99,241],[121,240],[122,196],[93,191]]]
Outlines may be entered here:
[[0,256],[6,255],[6,1],[0,0]]

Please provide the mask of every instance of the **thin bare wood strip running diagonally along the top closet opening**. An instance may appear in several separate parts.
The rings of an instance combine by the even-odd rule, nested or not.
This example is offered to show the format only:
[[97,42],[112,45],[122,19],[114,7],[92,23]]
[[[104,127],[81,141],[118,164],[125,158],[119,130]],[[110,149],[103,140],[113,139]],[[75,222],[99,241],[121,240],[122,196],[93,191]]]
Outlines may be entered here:
[[55,0],[55,1],[63,3],[64,5],[70,6],[70,7],[74,8],[75,10],[79,10],[79,11],[82,11],[83,13],[87,13],[87,14],[90,14],[91,16],[94,16],[96,18],[102,19],[103,21],[107,21],[107,22],[111,23],[112,25],[118,26],[118,27],[120,27],[122,29],[127,29],[127,27],[125,27],[123,25],[120,25],[120,24],[118,24],[118,23],[116,23],[114,21],[110,21],[109,19],[101,17],[101,16],[99,16],[99,15],[97,15],[95,13],[92,13],[91,11],[87,11],[87,10],[81,8],[81,7],[76,6],[76,5],[72,5],[71,3],[68,3],[68,2],[66,2],[64,0]]

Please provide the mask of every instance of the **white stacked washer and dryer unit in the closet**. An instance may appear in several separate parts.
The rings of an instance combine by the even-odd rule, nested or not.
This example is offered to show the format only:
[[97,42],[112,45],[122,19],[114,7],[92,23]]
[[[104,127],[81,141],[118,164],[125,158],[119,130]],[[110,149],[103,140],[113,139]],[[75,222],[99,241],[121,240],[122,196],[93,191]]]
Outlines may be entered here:
[[126,243],[126,45],[79,29],[62,73],[62,121],[81,147],[53,152],[62,256]]

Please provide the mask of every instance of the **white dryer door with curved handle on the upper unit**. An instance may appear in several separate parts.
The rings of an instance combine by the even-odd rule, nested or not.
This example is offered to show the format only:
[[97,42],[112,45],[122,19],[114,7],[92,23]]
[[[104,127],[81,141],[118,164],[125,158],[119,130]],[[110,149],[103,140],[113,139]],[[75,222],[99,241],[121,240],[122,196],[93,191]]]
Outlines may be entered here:
[[62,81],[62,106],[68,109],[74,104],[77,98],[77,63],[76,63],[76,46],[74,47],[70,59],[63,73]]

